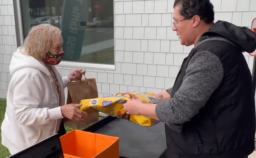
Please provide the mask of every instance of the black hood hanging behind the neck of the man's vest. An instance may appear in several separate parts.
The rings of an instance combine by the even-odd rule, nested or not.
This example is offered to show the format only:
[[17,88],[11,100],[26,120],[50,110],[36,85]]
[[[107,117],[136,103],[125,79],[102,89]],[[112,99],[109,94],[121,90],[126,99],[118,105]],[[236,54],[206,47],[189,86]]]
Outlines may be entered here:
[[247,27],[240,27],[226,21],[218,20],[209,31],[200,37],[199,41],[216,36],[228,39],[240,47],[242,52],[252,53],[256,49],[256,35]]

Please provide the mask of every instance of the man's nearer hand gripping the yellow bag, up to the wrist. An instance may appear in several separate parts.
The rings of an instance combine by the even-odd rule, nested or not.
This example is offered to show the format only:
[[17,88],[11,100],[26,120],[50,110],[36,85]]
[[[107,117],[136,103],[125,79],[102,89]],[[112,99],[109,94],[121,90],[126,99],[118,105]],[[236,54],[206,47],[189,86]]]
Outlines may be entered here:
[[140,99],[132,99],[127,100],[126,103],[123,104],[124,110],[126,110],[127,114],[140,115],[141,107],[144,106],[142,100]]

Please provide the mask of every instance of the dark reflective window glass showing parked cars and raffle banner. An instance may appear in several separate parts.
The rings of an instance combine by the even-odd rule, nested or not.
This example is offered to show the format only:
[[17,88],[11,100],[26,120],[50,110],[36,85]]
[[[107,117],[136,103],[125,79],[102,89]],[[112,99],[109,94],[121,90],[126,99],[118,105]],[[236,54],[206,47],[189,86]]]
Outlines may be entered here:
[[61,28],[64,61],[114,64],[113,0],[20,0],[24,37],[31,27]]

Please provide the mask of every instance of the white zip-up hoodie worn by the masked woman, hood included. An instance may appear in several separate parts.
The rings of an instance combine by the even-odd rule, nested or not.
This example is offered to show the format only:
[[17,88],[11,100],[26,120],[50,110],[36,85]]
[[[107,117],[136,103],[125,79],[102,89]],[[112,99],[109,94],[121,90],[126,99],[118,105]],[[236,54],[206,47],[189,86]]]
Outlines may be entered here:
[[43,62],[24,55],[23,48],[18,47],[14,52],[9,66],[12,78],[1,126],[2,144],[12,155],[57,133],[63,118],[60,106],[65,102],[64,87],[70,81],[67,76],[61,79],[52,66],[59,83],[59,100],[48,68]]

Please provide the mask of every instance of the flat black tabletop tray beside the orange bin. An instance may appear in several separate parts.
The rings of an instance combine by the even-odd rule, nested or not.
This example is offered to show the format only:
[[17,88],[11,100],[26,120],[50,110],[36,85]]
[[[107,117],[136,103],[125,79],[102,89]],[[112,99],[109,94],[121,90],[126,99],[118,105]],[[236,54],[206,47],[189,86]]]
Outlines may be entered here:
[[128,120],[106,116],[83,129],[119,137],[120,158],[165,158],[165,124],[144,127]]

